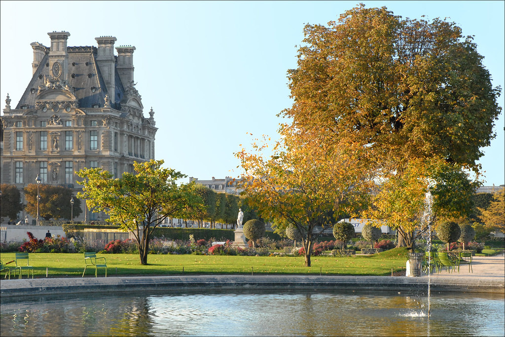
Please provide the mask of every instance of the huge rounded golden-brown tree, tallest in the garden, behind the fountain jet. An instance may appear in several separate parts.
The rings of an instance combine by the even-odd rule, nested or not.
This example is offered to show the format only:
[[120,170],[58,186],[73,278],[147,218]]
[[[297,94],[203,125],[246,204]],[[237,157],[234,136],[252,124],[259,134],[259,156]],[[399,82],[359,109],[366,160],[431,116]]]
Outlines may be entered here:
[[[368,169],[382,185],[375,207],[383,219],[396,219],[412,241],[428,181],[446,195],[463,189],[471,196],[475,182],[465,170],[478,173],[501,111],[501,88],[492,86],[471,36],[452,22],[403,19],[361,4],[327,26],[306,25],[303,42],[297,68],[288,71],[294,103],[282,115],[315,141],[351,133],[367,147],[379,163]],[[453,173],[450,183],[430,175],[436,170],[415,176],[419,163],[440,160]],[[465,213],[467,197],[452,202],[439,194],[435,208],[440,216]]]

